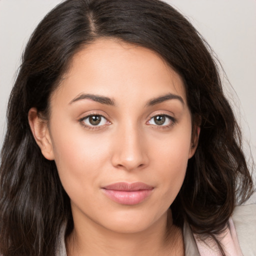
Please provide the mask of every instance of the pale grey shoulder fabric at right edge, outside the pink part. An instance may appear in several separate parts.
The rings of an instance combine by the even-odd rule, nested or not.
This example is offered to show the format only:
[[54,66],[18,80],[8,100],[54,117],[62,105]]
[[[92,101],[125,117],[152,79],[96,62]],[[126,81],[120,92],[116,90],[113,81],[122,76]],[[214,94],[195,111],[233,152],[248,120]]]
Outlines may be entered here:
[[256,255],[256,204],[236,206],[231,217],[243,255]]

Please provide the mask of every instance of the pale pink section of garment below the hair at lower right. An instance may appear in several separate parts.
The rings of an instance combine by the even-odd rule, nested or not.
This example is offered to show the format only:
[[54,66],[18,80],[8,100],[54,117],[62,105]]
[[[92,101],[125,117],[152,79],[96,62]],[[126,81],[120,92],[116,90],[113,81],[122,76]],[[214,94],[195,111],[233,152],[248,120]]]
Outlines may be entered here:
[[[228,220],[229,227],[217,235],[217,239],[221,242],[227,256],[242,256],[238,238],[232,218]],[[200,256],[221,256],[221,253],[212,240],[206,239],[205,242],[199,240],[194,234],[195,242],[200,253]]]

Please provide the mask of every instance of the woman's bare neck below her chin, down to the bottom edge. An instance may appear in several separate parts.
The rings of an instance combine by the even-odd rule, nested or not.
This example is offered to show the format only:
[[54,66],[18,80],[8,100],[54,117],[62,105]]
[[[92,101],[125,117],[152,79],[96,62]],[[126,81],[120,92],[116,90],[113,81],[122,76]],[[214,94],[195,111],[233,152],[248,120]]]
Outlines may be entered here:
[[66,247],[68,256],[183,255],[182,232],[172,224],[170,211],[154,225],[136,233],[117,233],[95,223],[77,227],[74,221]]

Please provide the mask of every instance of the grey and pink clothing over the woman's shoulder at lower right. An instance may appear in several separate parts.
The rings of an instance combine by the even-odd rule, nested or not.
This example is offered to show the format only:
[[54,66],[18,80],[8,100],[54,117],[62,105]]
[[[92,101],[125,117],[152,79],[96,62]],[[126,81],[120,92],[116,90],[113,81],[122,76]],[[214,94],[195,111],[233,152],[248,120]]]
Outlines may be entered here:
[[[221,255],[211,238],[202,241],[197,234],[192,233],[188,223],[184,223],[183,238],[185,255]],[[255,256],[256,204],[236,206],[229,218],[228,228],[216,238],[225,248],[227,255]]]

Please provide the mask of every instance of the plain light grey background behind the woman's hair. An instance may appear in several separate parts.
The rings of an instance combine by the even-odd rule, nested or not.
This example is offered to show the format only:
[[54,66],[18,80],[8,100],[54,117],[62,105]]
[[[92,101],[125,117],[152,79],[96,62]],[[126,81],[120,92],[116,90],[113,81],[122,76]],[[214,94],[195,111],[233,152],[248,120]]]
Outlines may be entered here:
[[[224,79],[226,95],[242,127],[246,155],[249,144],[256,159],[256,0],[166,1],[193,23],[220,59],[231,84]],[[0,147],[7,98],[21,52],[36,24],[59,2],[0,0]]]

